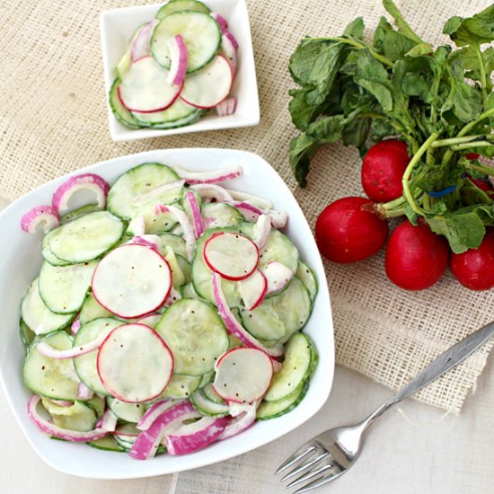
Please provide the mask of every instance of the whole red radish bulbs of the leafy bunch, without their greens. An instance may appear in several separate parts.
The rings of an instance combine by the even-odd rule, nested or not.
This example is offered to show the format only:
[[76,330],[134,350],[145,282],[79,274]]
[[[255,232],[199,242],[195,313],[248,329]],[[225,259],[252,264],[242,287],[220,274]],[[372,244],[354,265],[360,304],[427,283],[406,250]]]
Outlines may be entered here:
[[[365,260],[380,251],[388,239],[387,219],[376,203],[400,198],[402,176],[410,161],[405,143],[393,139],[371,147],[362,163],[362,187],[367,198],[340,198],[326,207],[315,224],[315,240],[322,255],[341,264]],[[493,191],[483,181],[477,187]],[[425,221],[414,226],[408,219],[391,234],[385,252],[387,277],[406,290],[432,287],[448,265],[464,287],[494,288],[494,228],[478,249],[451,252],[445,237],[434,234]]]

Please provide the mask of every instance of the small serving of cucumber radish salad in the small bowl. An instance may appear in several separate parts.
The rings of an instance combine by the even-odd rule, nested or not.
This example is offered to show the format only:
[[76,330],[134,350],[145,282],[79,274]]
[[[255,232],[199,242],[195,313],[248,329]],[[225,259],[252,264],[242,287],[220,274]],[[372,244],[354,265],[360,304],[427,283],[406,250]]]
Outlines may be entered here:
[[132,36],[110,108],[128,128],[183,127],[211,109],[232,115],[238,49],[221,14],[198,0],[170,0]]

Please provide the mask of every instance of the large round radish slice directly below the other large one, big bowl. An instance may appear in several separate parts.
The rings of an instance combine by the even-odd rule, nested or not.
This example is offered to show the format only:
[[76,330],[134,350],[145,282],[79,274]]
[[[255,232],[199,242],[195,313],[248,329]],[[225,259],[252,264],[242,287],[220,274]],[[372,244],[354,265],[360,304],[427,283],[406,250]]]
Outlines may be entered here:
[[172,379],[173,357],[156,331],[144,324],[124,324],[101,344],[97,368],[112,396],[140,403],[163,393]]

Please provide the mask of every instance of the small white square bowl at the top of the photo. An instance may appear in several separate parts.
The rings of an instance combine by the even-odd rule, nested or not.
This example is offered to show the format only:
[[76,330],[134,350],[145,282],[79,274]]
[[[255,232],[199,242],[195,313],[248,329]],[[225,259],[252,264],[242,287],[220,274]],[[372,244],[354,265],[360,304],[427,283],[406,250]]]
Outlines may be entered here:
[[252,50],[251,27],[245,0],[205,0],[212,12],[220,13],[228,22],[228,29],[238,41],[238,68],[231,95],[237,99],[233,115],[219,117],[216,110],[198,119],[192,125],[181,128],[153,129],[127,128],[113,115],[108,104],[108,93],[115,80],[115,66],[128,49],[133,33],[144,22],[150,21],[163,4],[143,5],[114,9],[101,13],[101,49],[107,99],[110,135],[114,141],[129,141],[149,137],[172,136],[188,132],[217,130],[219,128],[250,127],[260,121],[259,95],[256,68]]

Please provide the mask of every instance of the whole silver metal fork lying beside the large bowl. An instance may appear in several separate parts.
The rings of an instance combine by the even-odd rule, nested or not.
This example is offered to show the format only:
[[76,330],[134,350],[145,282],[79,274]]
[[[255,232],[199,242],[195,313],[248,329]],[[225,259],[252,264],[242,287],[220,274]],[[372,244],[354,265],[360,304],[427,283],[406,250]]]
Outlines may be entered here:
[[302,489],[296,490],[293,494],[302,494],[334,481],[347,472],[357,461],[366,428],[381,417],[384,411],[389,410],[396,403],[408,398],[411,394],[435,381],[440,375],[457,366],[486,340],[489,340],[492,334],[494,334],[494,322],[490,322],[480,330],[472,332],[471,335],[459,341],[453,347],[448,348],[437,357],[419,375],[416,375],[410,383],[402,387],[398,393],[395,393],[366,419],[363,419],[357,425],[331,428],[322,432],[319,436],[313,437],[309,442],[298,448],[278,468],[275,474],[286,472],[290,467],[294,467],[291,472],[288,472],[280,480],[291,480],[287,484],[287,489],[310,481],[310,483],[305,484]]

